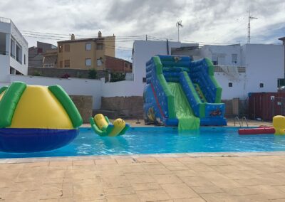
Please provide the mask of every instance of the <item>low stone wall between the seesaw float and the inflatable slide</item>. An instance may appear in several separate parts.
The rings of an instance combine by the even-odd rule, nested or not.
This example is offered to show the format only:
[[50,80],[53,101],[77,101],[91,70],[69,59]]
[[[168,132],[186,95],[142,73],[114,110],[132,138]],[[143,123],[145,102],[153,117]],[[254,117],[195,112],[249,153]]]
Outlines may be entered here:
[[142,119],[142,96],[102,97],[100,110],[94,111],[94,114],[97,113],[103,113],[110,119],[115,119],[118,117],[125,119]]

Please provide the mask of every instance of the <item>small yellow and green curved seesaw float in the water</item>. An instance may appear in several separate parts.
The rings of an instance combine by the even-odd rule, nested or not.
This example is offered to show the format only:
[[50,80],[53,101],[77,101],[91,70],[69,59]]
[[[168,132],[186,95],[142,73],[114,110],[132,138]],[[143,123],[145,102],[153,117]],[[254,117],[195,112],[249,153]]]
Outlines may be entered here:
[[94,132],[100,136],[118,136],[125,134],[130,128],[129,124],[126,124],[123,119],[115,119],[113,124],[109,121],[108,117],[104,117],[102,114],[90,117],[90,124]]

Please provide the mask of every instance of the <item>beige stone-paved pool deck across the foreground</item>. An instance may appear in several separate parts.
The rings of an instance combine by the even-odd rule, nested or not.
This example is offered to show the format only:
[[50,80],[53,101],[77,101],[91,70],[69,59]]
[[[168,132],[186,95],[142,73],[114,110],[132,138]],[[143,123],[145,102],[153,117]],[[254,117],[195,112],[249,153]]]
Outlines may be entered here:
[[284,165],[283,151],[0,159],[0,201],[279,202]]

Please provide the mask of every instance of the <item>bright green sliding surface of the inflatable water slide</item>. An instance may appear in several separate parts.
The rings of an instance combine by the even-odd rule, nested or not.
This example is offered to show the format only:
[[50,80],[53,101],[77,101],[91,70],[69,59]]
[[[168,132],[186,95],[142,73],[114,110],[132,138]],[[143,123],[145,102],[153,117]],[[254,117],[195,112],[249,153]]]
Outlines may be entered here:
[[199,129],[200,119],[192,112],[180,83],[167,84],[174,97],[176,117],[179,119],[178,129]]

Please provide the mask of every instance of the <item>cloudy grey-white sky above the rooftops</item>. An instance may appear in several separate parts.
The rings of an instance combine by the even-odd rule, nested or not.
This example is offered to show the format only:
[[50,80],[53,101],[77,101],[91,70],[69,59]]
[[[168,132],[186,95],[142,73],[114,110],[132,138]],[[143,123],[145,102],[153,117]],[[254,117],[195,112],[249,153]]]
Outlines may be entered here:
[[53,43],[70,38],[116,36],[116,56],[130,60],[133,40],[177,40],[204,44],[280,43],[285,36],[284,0],[6,0],[0,16],[11,18],[27,39]]

